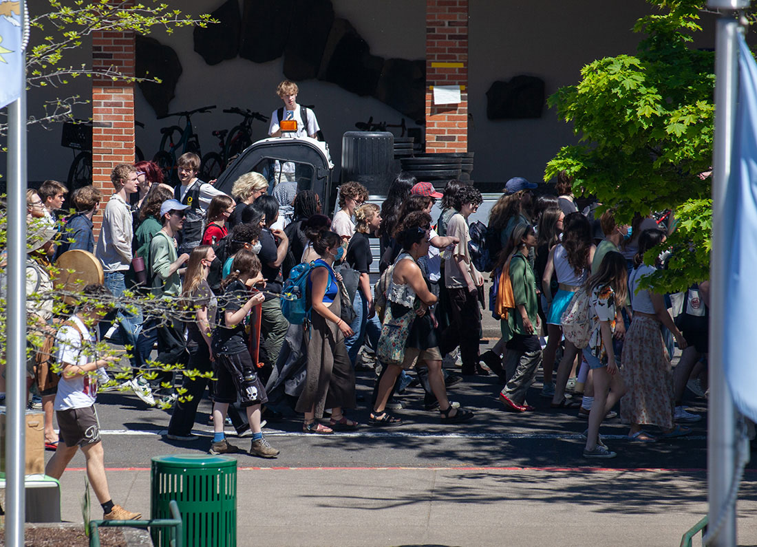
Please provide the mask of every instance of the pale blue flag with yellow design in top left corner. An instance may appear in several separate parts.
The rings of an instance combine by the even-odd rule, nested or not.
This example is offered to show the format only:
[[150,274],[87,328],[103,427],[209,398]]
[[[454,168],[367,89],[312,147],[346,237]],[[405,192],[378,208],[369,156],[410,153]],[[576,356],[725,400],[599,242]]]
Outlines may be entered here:
[[20,2],[0,0],[0,108],[20,97],[23,62]]

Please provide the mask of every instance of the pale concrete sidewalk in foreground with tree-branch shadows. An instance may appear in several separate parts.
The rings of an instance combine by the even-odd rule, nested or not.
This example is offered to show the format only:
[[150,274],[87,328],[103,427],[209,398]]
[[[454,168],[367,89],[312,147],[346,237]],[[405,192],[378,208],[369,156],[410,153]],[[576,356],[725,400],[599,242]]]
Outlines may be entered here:
[[[82,521],[84,476],[61,477],[66,521]],[[149,514],[148,469],[107,477],[115,502]],[[740,493],[741,545],[757,544],[753,479]],[[678,545],[707,511],[702,472],[239,468],[237,480],[238,545]]]

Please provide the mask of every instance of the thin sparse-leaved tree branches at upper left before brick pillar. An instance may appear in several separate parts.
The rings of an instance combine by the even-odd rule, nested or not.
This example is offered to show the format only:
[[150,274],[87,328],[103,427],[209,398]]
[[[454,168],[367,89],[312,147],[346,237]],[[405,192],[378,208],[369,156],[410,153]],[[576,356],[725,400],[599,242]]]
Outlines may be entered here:
[[[28,2],[30,10],[30,46],[26,49],[26,84],[29,88],[64,87],[77,77],[106,76],[127,81],[160,82],[156,76],[148,78],[126,77],[113,67],[95,70],[91,64],[74,66],[68,60],[71,52],[81,48],[83,40],[101,30],[149,34],[155,29],[172,33],[182,26],[207,26],[217,23],[210,15],[192,16],[170,8],[157,0],[96,0],[85,2]],[[77,104],[89,103],[79,95],[62,94],[61,98],[47,101],[44,115],[30,117],[29,124],[52,123],[70,120]],[[0,135],[8,132],[8,124],[0,123]]]

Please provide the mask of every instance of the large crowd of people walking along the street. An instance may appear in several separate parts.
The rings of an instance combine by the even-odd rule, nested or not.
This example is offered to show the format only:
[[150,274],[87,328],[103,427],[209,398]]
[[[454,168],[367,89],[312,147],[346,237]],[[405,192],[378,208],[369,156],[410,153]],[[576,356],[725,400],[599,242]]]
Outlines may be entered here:
[[[299,112],[296,89],[294,98],[291,89],[279,95],[287,112]],[[308,112],[298,116],[310,135],[318,128]],[[272,132],[279,130],[272,125]],[[675,302],[644,284],[663,266],[662,254],[653,265],[645,258],[661,252],[668,232],[651,217],[637,215],[623,225],[616,210],[597,218],[596,207],[579,212],[565,173],[552,194],[535,195],[537,185],[521,177],[506,183],[488,219],[493,287],[487,306],[484,273],[477,268],[485,269],[478,260],[481,245],[469,229],[482,197],[466,182],[452,180],[438,191],[400,172],[380,207],[366,203],[363,185],[347,182],[331,217],[321,196],[297,190],[286,163],[271,180],[257,172],[240,176],[231,195],[199,180],[199,168],[199,157],[182,155],[179,184],[172,188],[152,162],[115,166],[114,193],[96,241],[92,219],[103,200],[98,189],[78,188],[70,197],[73,207],[60,182],[47,181],[27,194],[27,294],[52,294],[48,266],[67,251],[84,250],[101,263],[104,284],[88,285],[83,293],[114,299],[115,315],[85,300],[62,317],[52,297],[27,300],[33,322],[57,347],[46,360],[36,347],[28,366],[30,386],[35,384],[30,404],[45,413],[45,446],[57,449],[48,474],[59,477],[82,448],[110,518],[139,515],[114,505],[107,493],[94,402],[98,384],[103,390],[119,383],[107,374],[117,359],[90,359],[83,352],[98,340],[129,348],[133,374],[121,390],[133,390],[151,405],[173,406],[169,440],[198,439],[192,434],[198,403],[209,392],[211,454],[239,451],[226,439],[230,423],[238,437],[251,436],[250,455],[279,455],[263,436],[263,417],[276,417],[276,407],[285,403],[302,415],[306,434],[361,427],[349,415],[358,402],[361,352],[376,358],[375,387],[366,401],[369,427],[403,424],[389,411],[402,408],[398,393],[412,381],[441,424],[474,418],[450,401],[447,388],[479,375],[497,375],[507,411],[533,411],[527,395],[539,368],[540,395],[553,408],[588,418],[586,458],[616,455],[599,430],[616,415],[618,402],[628,439],[638,443],[689,434],[683,423],[699,420],[682,399],[687,383],[702,378],[707,281]],[[441,214],[432,219],[438,200]],[[380,243],[375,285],[370,238]],[[292,288],[298,278],[302,291]],[[127,303],[132,294],[150,294],[167,312],[140,306],[139,299]],[[304,319],[285,314],[282,302],[291,300],[304,303]],[[563,332],[566,313],[579,301],[589,318],[582,343]],[[680,310],[675,320],[671,307]],[[481,354],[482,308],[500,321],[501,337]],[[176,309],[182,312],[171,312]],[[683,351],[675,371],[673,340]],[[450,366],[456,359],[459,375]],[[60,365],[57,375],[50,373],[52,362]],[[146,374],[156,364],[192,372],[177,386],[171,371]]]

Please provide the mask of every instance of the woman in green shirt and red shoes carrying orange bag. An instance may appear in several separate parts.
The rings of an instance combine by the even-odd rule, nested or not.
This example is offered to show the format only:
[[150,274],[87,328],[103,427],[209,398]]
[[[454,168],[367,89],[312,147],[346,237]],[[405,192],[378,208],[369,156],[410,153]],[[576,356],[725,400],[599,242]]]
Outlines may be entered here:
[[509,310],[507,328],[503,325],[503,335],[509,340],[505,362],[507,383],[500,391],[500,401],[507,409],[516,412],[534,409],[526,402],[525,395],[541,364],[536,277],[528,263],[528,252],[534,247],[536,234],[533,226],[519,224],[512,230],[505,254],[510,256],[510,284],[515,308]]

